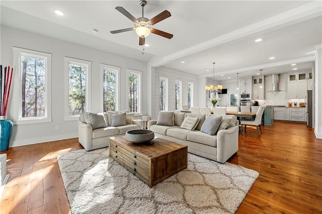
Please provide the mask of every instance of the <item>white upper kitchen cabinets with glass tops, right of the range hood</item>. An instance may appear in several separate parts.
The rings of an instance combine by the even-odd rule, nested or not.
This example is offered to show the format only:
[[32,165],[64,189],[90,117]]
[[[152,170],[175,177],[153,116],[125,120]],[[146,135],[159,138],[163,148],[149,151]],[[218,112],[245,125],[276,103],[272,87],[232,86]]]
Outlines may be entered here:
[[308,87],[308,73],[288,74],[288,98],[304,99]]

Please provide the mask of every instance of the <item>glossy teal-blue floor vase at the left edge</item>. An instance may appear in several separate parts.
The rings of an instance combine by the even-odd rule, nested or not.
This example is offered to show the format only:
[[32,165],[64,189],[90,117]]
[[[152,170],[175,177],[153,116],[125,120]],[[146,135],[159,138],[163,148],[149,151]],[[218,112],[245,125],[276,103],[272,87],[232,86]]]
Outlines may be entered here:
[[0,151],[8,150],[14,124],[6,120],[7,116],[0,116]]

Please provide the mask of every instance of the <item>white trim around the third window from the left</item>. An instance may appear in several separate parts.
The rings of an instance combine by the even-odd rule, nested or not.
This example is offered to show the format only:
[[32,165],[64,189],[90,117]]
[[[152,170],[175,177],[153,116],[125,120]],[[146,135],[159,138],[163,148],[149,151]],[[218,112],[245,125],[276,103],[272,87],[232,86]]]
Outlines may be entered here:
[[101,90],[100,90],[100,97],[101,97],[101,111],[103,112],[103,87],[104,87],[104,79],[103,79],[103,72],[105,69],[111,69],[111,70],[115,70],[116,74],[115,74],[115,82],[116,82],[116,89],[115,89],[115,111],[120,111],[119,106],[120,106],[120,72],[121,72],[121,68],[120,67],[116,67],[113,65],[106,65],[106,64],[101,64],[101,74],[100,74],[100,79],[101,79]]

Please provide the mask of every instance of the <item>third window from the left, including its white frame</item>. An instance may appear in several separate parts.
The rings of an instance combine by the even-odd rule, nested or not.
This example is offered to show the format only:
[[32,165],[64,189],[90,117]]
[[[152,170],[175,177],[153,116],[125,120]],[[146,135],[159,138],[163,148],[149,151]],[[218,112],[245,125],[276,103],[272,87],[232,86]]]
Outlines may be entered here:
[[118,110],[119,67],[101,64],[103,74],[103,112]]

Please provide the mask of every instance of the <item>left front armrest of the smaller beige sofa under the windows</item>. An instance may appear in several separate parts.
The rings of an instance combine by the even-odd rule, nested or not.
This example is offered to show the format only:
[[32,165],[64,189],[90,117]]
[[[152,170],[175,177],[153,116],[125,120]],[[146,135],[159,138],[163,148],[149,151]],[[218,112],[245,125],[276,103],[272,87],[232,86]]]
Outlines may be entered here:
[[78,121],[78,142],[87,150],[93,150],[93,129],[92,126]]

